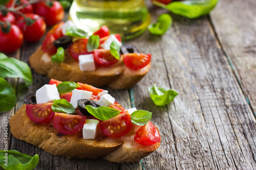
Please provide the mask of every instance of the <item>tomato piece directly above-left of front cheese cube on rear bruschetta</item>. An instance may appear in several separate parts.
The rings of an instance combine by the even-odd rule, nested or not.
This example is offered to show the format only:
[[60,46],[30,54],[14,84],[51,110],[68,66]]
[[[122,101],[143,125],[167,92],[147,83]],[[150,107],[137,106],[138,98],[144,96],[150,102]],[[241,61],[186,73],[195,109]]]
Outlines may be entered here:
[[81,38],[72,42],[72,44],[70,44],[68,48],[69,55],[73,59],[78,60],[79,55],[91,54],[87,51],[87,43],[88,43],[87,38]]

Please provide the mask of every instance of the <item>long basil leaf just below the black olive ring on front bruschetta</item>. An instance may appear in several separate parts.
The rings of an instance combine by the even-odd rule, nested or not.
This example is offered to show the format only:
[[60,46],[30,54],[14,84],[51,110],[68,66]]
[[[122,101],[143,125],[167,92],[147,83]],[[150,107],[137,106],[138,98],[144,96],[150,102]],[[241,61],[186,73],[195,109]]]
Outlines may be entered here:
[[111,107],[93,107],[91,105],[86,105],[87,111],[92,114],[94,117],[100,120],[108,120],[116,115],[120,114],[120,110],[113,109]]

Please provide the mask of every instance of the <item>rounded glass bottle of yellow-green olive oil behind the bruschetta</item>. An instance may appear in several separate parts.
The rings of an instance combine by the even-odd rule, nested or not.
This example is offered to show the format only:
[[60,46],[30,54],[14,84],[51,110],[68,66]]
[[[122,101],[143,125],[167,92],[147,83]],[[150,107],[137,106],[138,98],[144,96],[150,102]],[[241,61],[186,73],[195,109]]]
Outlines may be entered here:
[[122,39],[143,33],[151,20],[144,0],[74,0],[70,18],[91,34],[105,25]]

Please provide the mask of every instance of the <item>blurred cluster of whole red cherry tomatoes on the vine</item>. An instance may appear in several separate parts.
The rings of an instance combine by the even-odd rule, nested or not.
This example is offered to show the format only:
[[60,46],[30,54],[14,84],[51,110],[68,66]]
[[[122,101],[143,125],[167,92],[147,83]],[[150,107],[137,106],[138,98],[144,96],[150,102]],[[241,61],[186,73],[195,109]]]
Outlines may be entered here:
[[[0,11],[0,51],[12,53],[23,43],[38,41],[46,32],[64,17],[64,10],[57,1],[37,3],[38,0],[9,1]],[[15,43],[15,45],[11,45]]]

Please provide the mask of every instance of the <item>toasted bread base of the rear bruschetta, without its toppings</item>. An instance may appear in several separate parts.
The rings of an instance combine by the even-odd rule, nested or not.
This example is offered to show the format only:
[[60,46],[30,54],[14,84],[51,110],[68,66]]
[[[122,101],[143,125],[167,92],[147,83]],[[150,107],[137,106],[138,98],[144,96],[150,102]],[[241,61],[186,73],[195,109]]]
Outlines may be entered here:
[[95,71],[81,71],[76,60],[67,53],[61,63],[52,63],[51,56],[44,53],[39,47],[29,58],[31,68],[39,74],[47,74],[49,79],[59,81],[74,81],[91,84],[96,87],[108,85],[116,89],[133,87],[150,70],[151,63],[139,70],[126,67],[121,58],[116,64],[109,67],[97,65]]

